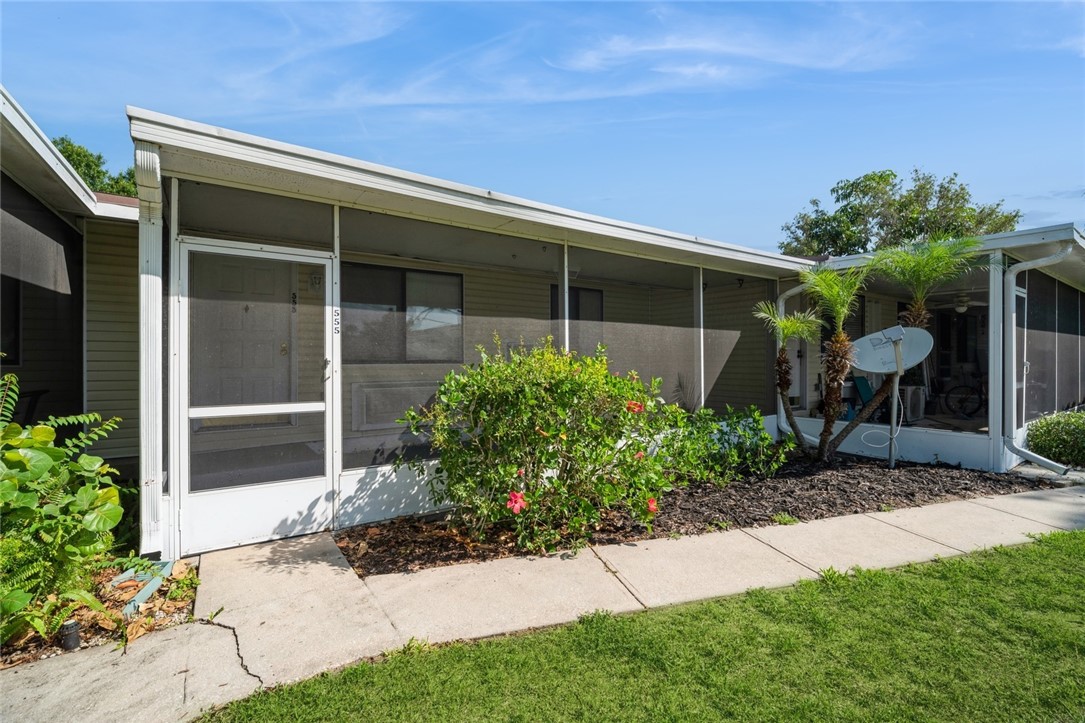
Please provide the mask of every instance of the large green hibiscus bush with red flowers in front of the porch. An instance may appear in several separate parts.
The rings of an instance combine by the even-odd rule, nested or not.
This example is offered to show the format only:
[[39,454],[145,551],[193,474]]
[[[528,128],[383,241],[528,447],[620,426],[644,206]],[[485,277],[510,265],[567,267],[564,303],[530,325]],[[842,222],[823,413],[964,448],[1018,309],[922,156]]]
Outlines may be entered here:
[[650,524],[661,494],[701,473],[715,441],[687,433],[690,415],[664,404],[659,380],[612,373],[602,347],[580,356],[548,339],[506,353],[495,341],[403,420],[438,459],[399,465],[475,537],[511,528],[527,549],[575,546],[605,509]]

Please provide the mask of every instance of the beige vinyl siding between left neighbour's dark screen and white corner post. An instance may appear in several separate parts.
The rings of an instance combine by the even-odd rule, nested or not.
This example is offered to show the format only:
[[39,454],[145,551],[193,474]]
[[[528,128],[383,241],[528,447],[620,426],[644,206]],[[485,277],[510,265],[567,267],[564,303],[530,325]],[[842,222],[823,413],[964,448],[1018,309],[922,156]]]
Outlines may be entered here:
[[87,224],[87,409],[123,419],[94,444],[106,459],[139,455],[138,241],[135,224]]

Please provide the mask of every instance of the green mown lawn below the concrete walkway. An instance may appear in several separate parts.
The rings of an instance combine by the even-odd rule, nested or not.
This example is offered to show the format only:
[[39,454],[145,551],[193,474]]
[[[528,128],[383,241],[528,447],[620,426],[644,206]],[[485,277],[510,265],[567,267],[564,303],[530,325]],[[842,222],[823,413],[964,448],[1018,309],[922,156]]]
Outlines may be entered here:
[[1085,720],[1085,531],[431,648],[213,721]]

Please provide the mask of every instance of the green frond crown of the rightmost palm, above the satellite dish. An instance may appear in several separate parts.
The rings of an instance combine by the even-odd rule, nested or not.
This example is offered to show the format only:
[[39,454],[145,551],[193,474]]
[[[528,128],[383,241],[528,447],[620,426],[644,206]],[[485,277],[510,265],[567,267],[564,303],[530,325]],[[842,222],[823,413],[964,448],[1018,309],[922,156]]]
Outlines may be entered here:
[[926,329],[931,322],[927,297],[935,287],[979,268],[975,252],[979,239],[932,238],[914,241],[875,254],[875,274],[896,281],[908,290],[911,301],[901,314],[906,327]]

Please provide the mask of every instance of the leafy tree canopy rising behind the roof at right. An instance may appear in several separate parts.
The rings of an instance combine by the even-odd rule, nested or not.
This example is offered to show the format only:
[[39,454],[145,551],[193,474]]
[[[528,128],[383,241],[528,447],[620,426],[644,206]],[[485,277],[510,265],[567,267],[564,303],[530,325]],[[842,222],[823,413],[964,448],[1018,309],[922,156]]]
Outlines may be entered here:
[[892,170],[875,170],[832,187],[835,210],[817,199],[783,225],[780,251],[795,256],[845,256],[931,238],[966,238],[1012,231],[1020,211],[1003,201],[978,204],[957,174],[939,179],[919,168],[905,187]]

